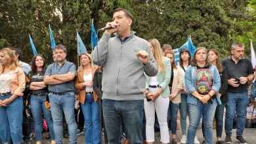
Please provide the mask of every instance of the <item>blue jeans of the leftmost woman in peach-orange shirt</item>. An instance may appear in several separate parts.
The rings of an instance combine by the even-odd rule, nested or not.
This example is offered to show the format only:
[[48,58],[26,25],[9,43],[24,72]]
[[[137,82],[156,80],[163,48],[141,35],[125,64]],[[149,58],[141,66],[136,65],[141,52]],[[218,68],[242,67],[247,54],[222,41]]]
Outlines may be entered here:
[[[0,96],[1,100],[12,95]],[[22,142],[22,111],[23,99],[21,96],[14,99],[7,107],[0,107],[0,141],[2,143],[20,144]]]

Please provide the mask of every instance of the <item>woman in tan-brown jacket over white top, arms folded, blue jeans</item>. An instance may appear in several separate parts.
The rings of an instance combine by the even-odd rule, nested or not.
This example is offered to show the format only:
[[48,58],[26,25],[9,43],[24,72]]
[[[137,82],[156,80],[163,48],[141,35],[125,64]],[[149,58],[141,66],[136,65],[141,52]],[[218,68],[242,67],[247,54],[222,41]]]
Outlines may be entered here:
[[80,63],[75,89],[79,90],[79,102],[85,118],[85,143],[100,143],[100,109],[98,96],[93,90],[93,77],[98,67],[88,53],[81,54]]

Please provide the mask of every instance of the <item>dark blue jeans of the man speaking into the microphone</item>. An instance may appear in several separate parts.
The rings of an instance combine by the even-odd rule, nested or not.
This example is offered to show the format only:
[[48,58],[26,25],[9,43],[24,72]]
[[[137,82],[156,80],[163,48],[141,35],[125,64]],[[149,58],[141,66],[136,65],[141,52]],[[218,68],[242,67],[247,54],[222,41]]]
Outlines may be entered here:
[[121,143],[121,120],[125,124],[129,143],[142,143],[143,100],[115,101],[103,99],[103,115],[108,143]]

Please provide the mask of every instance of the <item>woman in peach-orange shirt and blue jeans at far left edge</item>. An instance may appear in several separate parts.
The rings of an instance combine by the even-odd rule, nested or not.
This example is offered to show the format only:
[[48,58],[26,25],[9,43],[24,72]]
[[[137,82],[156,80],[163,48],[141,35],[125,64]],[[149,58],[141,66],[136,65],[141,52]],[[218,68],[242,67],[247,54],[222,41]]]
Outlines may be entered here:
[[21,143],[25,74],[14,50],[0,50],[0,141]]

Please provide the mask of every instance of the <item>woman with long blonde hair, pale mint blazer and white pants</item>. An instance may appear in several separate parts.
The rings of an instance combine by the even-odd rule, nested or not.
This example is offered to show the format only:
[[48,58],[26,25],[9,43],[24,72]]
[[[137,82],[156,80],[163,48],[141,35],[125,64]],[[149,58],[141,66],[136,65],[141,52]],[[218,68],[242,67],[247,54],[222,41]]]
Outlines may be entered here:
[[161,143],[169,143],[169,131],[167,126],[167,111],[169,107],[169,82],[171,79],[171,63],[169,58],[163,56],[160,43],[157,39],[150,39],[150,48],[158,63],[158,75],[149,77],[146,75],[146,98],[144,98],[144,110],[146,115],[146,141],[153,143],[155,111],[160,124]]

